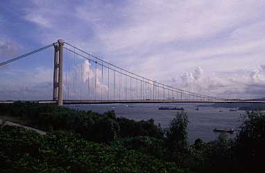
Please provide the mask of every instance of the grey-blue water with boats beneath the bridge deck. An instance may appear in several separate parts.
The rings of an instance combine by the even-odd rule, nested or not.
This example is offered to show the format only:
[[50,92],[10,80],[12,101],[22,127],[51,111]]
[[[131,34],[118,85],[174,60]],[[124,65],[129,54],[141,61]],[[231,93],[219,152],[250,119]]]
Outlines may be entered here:
[[[92,110],[99,113],[114,110],[116,116],[122,116],[133,120],[148,120],[153,118],[155,124],[162,127],[169,127],[169,122],[176,115],[173,110],[158,110],[161,106],[183,107],[188,113],[189,125],[189,143],[194,143],[196,138],[205,142],[216,139],[219,132],[213,129],[237,129],[241,125],[240,115],[245,111],[230,111],[228,108],[199,107],[196,111],[197,104],[179,104],[179,103],[160,103],[160,104],[78,104],[69,105],[68,107],[79,110]],[[234,138],[236,133],[228,134],[228,137]]]

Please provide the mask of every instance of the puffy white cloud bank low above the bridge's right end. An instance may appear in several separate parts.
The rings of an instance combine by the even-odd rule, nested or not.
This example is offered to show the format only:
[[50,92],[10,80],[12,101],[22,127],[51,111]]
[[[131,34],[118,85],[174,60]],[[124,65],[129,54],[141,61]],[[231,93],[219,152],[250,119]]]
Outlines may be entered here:
[[[196,93],[219,95],[223,98],[262,98],[265,97],[265,68],[259,66],[252,71],[235,73],[229,78],[207,77],[200,67],[194,72],[185,72],[173,78],[173,86],[182,87]],[[198,78],[194,76],[199,75]],[[246,76],[246,74],[248,74]]]

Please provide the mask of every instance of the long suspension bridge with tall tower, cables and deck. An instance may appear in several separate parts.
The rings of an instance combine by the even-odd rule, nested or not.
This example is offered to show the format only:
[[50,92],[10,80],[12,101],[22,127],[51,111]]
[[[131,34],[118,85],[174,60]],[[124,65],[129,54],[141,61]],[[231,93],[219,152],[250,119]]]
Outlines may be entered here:
[[[178,89],[144,78],[91,55],[62,39],[22,56],[1,62],[0,66],[54,48],[53,98],[33,102],[62,104],[155,103],[155,102],[252,102],[225,99]],[[0,102],[15,102],[2,100]],[[26,101],[26,100],[25,100]]]

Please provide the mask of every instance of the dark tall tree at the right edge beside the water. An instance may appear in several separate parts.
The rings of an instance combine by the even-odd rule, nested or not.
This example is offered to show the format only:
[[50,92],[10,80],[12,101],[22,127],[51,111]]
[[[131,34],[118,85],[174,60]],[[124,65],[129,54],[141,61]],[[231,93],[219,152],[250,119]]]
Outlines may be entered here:
[[235,141],[236,156],[245,169],[265,172],[265,113],[247,112]]

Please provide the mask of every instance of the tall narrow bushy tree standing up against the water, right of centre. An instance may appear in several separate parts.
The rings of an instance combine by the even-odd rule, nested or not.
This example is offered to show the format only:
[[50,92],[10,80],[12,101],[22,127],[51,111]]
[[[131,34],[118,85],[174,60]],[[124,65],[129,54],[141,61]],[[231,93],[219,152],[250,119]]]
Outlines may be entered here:
[[171,120],[169,130],[166,131],[166,145],[169,150],[169,157],[181,163],[188,152],[188,125],[187,113],[178,112]]

